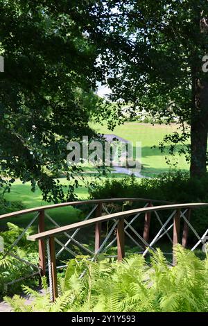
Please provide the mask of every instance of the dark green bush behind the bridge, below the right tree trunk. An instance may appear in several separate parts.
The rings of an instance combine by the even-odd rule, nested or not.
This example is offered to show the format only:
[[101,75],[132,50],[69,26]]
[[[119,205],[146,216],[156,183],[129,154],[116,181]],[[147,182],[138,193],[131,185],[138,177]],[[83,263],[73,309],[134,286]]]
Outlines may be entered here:
[[[91,190],[92,198],[150,198],[173,203],[208,203],[208,174],[203,178],[189,178],[189,173],[164,173],[159,178],[108,179]],[[132,207],[138,207],[133,203]],[[131,207],[127,207],[130,209]],[[160,213],[162,216],[164,213]],[[165,217],[164,217],[165,218]],[[165,220],[164,220],[165,221]],[[138,227],[143,225],[138,221]],[[158,223],[157,223],[158,224]],[[191,224],[202,236],[208,226],[208,208],[193,209]],[[189,240],[193,239],[189,232]],[[196,240],[196,237],[194,237]]]

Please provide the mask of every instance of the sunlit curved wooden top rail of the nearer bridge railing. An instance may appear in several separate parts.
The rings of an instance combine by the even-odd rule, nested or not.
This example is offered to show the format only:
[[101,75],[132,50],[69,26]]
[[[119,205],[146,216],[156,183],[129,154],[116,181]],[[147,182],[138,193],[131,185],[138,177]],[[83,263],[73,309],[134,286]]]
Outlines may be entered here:
[[41,232],[37,234],[33,234],[29,237],[27,237],[30,241],[36,241],[40,239],[48,239],[50,237],[53,237],[56,234],[60,234],[63,232],[71,231],[77,228],[86,228],[89,225],[92,225],[94,223],[101,223],[105,221],[110,221],[114,218],[124,218],[126,216],[131,216],[137,213],[146,213],[146,212],[154,212],[159,210],[165,210],[165,209],[182,209],[182,208],[200,208],[200,207],[207,207],[208,203],[191,203],[191,204],[173,204],[173,205],[162,205],[162,206],[153,206],[153,207],[143,207],[143,208],[137,208],[137,209],[130,209],[125,212],[118,212],[114,214],[108,214],[105,216],[100,216],[96,218],[92,218],[87,221],[82,221],[78,223],[73,223],[69,225],[62,226],[60,228],[55,228],[53,230],[49,230],[46,232]]

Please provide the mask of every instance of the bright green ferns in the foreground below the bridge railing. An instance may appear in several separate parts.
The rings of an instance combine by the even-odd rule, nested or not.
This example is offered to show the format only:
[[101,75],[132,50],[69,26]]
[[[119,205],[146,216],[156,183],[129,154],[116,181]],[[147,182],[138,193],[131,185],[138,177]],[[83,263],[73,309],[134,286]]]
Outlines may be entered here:
[[60,296],[53,304],[45,279],[44,296],[24,286],[25,293],[34,298],[31,304],[19,295],[6,300],[20,312],[207,311],[208,259],[201,261],[181,246],[175,247],[175,255],[177,266],[173,268],[160,250],[152,254],[150,266],[141,255],[122,262],[71,259],[60,280]]

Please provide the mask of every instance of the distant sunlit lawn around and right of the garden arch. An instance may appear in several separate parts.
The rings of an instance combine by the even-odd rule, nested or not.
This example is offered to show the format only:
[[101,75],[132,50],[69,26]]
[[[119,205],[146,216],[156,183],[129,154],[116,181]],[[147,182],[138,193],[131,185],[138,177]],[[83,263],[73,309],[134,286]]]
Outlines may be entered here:
[[[166,154],[161,153],[158,148],[151,147],[153,145],[158,146],[164,135],[170,134],[176,130],[174,124],[171,126],[156,124],[152,126],[150,123],[128,122],[121,126],[116,126],[113,131],[107,129],[107,124],[105,122],[103,126],[99,123],[91,123],[90,126],[101,134],[115,134],[128,141],[133,141],[134,146],[136,141],[141,141],[141,160],[144,166],[144,170],[141,171],[142,174],[154,177],[158,173],[169,171],[170,167],[166,164],[165,160]],[[185,161],[184,156],[175,155],[175,157],[171,157],[171,155],[168,155],[168,158],[171,160],[171,163],[178,161],[177,169],[182,169],[184,171],[189,170],[189,164]]]

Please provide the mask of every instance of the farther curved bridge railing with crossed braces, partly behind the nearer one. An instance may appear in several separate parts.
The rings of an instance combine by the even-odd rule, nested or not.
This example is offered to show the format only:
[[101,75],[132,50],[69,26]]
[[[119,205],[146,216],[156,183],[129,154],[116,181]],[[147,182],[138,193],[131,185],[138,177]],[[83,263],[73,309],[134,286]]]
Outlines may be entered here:
[[[54,228],[51,231],[55,231],[58,230],[58,228],[60,228],[60,222],[58,221],[58,218],[52,218],[50,216],[51,213],[49,213],[49,209],[58,209],[61,207],[82,207],[83,205],[87,205],[89,206],[89,213],[87,214],[87,216],[85,216],[84,221],[81,223],[87,223],[91,220],[93,220],[93,218],[98,218],[99,216],[103,216],[103,214],[110,214],[112,212],[114,212],[114,209],[119,209],[121,210],[121,203],[123,203],[123,207],[128,207],[131,203],[135,203],[135,205],[138,204],[138,206],[144,205],[144,207],[152,207],[153,205],[164,205],[164,204],[168,204],[168,202],[164,201],[164,200],[152,200],[152,199],[146,199],[146,198],[110,198],[110,199],[98,199],[98,200],[79,200],[79,201],[74,201],[74,202],[69,202],[69,203],[60,203],[60,204],[54,204],[54,205],[44,205],[44,206],[40,206],[40,207],[35,207],[35,208],[31,208],[31,209],[24,209],[18,212],[12,212],[9,214],[3,214],[0,216],[0,221],[2,220],[6,220],[7,218],[17,218],[15,219],[15,221],[18,221],[18,217],[19,216],[23,216],[25,214],[33,214],[32,218],[30,218],[30,221],[28,222],[28,225],[26,225],[26,227],[24,228],[24,230],[21,232],[21,234],[19,234],[19,237],[17,237],[17,239],[14,241],[14,243],[12,243],[12,245],[9,248],[6,248],[6,252],[3,254],[3,258],[5,258],[7,255],[12,256],[13,258],[17,259],[18,261],[21,261],[22,264],[26,264],[27,266],[30,266],[30,270],[31,273],[30,275],[24,275],[23,277],[14,280],[8,284],[5,284],[5,287],[10,286],[10,284],[13,284],[15,282],[19,282],[20,280],[24,280],[27,277],[31,277],[33,275],[38,275],[40,274],[40,276],[45,275],[47,268],[47,264],[46,264],[46,248],[45,248],[45,241],[44,239],[39,239],[38,240],[38,247],[39,247],[39,261],[38,264],[32,264],[31,261],[28,261],[25,258],[19,257],[19,255],[17,254],[17,252],[15,251],[15,247],[17,246],[17,244],[19,243],[19,241],[21,240],[22,237],[25,236],[26,231],[28,230],[28,228],[31,228],[32,225],[35,225],[35,223],[37,224],[37,230],[39,234],[42,234],[42,232],[44,232],[46,230],[46,222],[50,221],[50,223],[52,223],[52,225],[54,225]],[[117,207],[116,205],[120,204],[119,207]],[[128,205],[127,205],[128,204]],[[132,221],[130,221],[129,225],[126,225],[125,227],[125,234],[135,243],[136,246],[139,246],[139,248],[141,248],[141,250],[143,250],[143,247],[141,245],[139,245],[138,241],[135,239],[135,237],[133,235],[130,234],[130,232],[128,232],[128,228],[132,231],[134,230],[134,234],[137,234],[137,231],[135,230],[135,228],[132,227],[132,223],[137,219],[137,217],[139,217],[141,213],[138,212],[136,214],[136,216],[134,218],[132,218]],[[155,211],[155,214],[157,214],[157,212]],[[159,218],[159,215],[157,214],[157,220],[159,221],[160,225],[162,225],[162,221]],[[145,216],[144,216],[144,230],[143,230],[143,234],[139,237],[141,237],[141,239],[143,239],[143,243],[148,243],[148,239],[149,239],[149,232],[150,232],[150,211],[146,212]],[[47,220],[47,221],[46,221]],[[56,221],[55,221],[56,220]],[[28,218],[27,218],[28,221]],[[69,224],[69,222],[66,222],[67,224]],[[104,249],[105,243],[107,243],[107,240],[110,239],[110,237],[114,236],[114,230],[116,227],[116,223],[113,223],[113,225],[110,226],[110,229],[106,231],[106,237],[105,240],[103,241],[102,245],[101,245],[101,223],[97,222],[94,223],[94,250],[92,250],[92,248],[88,248],[87,246],[85,246],[83,243],[81,243],[80,241],[78,241],[77,237],[78,237],[78,232],[80,232],[80,230],[83,228],[83,226],[81,226],[81,228],[73,228],[73,233],[69,234],[69,232],[63,232],[64,237],[67,237],[67,241],[62,241],[61,239],[57,239],[55,238],[55,243],[58,244],[58,246],[60,246],[58,252],[56,252],[55,257],[58,258],[59,256],[61,257],[62,252],[65,250],[67,251],[67,253],[70,253],[70,255],[72,255],[73,257],[76,257],[78,255],[77,250],[74,250],[73,247],[78,248],[79,250],[83,250],[85,255],[91,255],[92,257],[94,256],[94,254],[96,253],[96,255],[98,255],[99,252],[101,252],[102,248]],[[171,239],[171,237],[169,236],[169,234],[167,233],[167,236],[169,239]],[[140,240],[141,240],[140,239]],[[107,248],[110,248],[110,246],[112,246],[113,243],[116,242],[116,237],[114,237],[114,239],[112,239],[111,243],[108,244],[108,246],[105,247],[105,250],[107,250]],[[69,248],[70,246],[70,248]],[[119,254],[121,255],[121,254]],[[49,258],[49,255],[48,255]],[[50,271],[50,268],[49,268]]]

